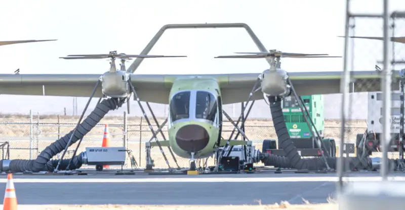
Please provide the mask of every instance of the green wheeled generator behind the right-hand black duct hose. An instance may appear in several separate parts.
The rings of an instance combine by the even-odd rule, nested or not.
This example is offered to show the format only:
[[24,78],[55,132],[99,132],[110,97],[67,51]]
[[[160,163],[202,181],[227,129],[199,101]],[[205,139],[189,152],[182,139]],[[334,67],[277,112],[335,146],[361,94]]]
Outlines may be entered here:
[[[328,153],[331,156],[335,156],[335,140],[333,138],[324,138],[323,136],[323,130],[325,128],[325,117],[323,116],[323,95],[303,95],[301,98],[303,100],[303,105],[308,110],[309,116],[306,116],[310,126],[308,126],[308,123],[300,109],[298,98],[288,96],[285,97],[281,103],[286,126],[295,147],[297,147],[301,156],[320,156],[321,151],[319,151],[315,141],[317,131],[325,144]],[[311,120],[314,126],[312,126]],[[316,131],[314,127],[316,128]],[[313,136],[313,134],[315,136]],[[276,155],[285,155],[282,148],[279,148],[277,145],[279,144],[276,144],[275,139],[265,139],[263,141],[263,152]],[[322,150],[322,152],[325,151]]]

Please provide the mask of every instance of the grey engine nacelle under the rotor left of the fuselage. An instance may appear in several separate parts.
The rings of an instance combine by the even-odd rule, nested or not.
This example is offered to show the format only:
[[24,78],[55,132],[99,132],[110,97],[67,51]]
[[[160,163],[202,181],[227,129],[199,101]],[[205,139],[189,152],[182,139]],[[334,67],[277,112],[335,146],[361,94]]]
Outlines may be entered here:
[[130,91],[129,74],[126,71],[106,72],[101,76],[104,95],[110,97],[127,97]]

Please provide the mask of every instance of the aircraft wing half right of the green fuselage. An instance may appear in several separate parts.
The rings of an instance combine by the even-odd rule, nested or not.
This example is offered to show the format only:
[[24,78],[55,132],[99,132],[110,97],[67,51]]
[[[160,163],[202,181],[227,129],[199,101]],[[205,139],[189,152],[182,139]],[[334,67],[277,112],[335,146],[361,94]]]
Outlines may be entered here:
[[[382,91],[381,73],[378,71],[350,72],[349,92]],[[248,99],[259,74],[229,74],[227,81],[221,84],[224,104],[242,102]],[[342,72],[291,72],[290,80],[298,95],[341,93],[340,79]],[[399,71],[393,71],[394,78],[399,78]],[[354,84],[353,84],[354,82]],[[399,90],[399,80],[392,80],[391,90]],[[263,93],[257,91],[252,99],[263,99]]]

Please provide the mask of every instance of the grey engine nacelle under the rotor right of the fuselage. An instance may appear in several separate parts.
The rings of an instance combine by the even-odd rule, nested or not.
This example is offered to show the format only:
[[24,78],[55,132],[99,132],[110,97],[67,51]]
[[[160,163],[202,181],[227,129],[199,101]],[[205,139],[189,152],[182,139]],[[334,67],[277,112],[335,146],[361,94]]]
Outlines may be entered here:
[[262,75],[262,92],[266,95],[285,97],[291,94],[287,83],[287,72],[281,69],[276,71],[265,70]]

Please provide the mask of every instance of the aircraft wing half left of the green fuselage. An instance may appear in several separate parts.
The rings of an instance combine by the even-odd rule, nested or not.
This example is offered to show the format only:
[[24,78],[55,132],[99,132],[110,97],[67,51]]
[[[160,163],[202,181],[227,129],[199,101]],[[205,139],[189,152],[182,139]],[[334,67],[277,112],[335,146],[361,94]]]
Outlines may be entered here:
[[[0,74],[0,94],[90,97],[100,74]],[[168,103],[168,75],[131,75],[142,101]],[[101,83],[94,97],[102,97]]]

